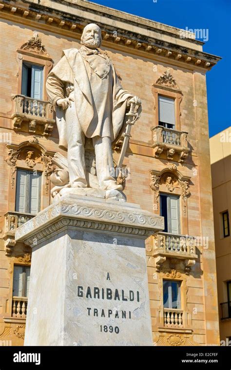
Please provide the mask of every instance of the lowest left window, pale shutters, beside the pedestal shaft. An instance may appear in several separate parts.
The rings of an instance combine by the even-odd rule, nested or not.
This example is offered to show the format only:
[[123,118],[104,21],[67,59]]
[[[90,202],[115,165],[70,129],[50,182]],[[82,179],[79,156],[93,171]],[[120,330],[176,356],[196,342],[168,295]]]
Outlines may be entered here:
[[28,297],[30,267],[14,266],[13,296]]

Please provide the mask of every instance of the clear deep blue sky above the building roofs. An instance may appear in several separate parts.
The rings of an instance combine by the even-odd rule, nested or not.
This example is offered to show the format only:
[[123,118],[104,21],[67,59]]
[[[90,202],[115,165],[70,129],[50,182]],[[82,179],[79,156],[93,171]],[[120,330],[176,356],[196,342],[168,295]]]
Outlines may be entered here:
[[178,28],[208,29],[203,50],[222,57],[207,73],[210,136],[231,125],[231,0],[95,0]]

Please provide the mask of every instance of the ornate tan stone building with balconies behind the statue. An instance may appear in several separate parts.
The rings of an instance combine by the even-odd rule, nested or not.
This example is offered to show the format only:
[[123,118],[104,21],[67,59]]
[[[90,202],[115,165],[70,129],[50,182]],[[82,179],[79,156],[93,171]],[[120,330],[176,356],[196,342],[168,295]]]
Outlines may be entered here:
[[45,80],[94,22],[122,86],[142,100],[124,192],[165,217],[146,244],[154,345],[219,345],[206,73],[220,58],[193,34],[84,0],[0,1],[0,17],[1,343],[22,345],[25,331],[31,251],[15,229],[50,204],[52,158],[66,156]]

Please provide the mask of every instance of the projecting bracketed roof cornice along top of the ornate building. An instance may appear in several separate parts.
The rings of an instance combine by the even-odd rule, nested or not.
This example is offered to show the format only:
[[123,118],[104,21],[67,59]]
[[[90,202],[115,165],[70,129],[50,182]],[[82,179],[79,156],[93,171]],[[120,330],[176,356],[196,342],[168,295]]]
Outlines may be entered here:
[[[88,5],[90,6],[90,3]],[[37,29],[58,33],[73,39],[80,39],[82,30],[86,25],[86,18],[84,17],[61,12],[57,9],[51,9],[26,0],[23,2],[0,1],[0,16],[3,19],[27,24]],[[161,63],[200,72],[210,70],[221,59],[220,57],[182,45],[127,31],[119,28],[117,25],[115,34],[115,26],[98,21],[97,24],[102,29],[102,45],[106,48],[124,51],[140,57],[151,58]]]

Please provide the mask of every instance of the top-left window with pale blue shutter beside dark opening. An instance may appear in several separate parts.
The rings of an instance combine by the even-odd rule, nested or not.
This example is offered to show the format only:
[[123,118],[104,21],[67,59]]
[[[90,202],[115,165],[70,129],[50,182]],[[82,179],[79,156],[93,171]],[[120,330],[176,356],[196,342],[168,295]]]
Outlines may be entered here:
[[21,94],[33,99],[42,100],[43,67],[22,63]]

